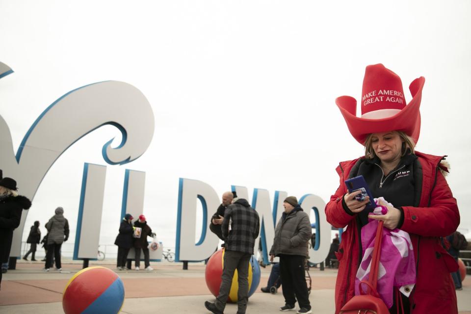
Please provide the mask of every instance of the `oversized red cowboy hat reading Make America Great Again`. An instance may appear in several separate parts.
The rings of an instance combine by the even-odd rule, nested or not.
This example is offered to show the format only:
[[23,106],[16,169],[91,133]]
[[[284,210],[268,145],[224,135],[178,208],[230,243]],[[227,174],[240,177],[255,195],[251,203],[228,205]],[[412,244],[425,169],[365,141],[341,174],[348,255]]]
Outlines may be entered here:
[[352,136],[362,145],[370,133],[403,131],[417,143],[420,134],[420,100],[425,78],[409,86],[412,100],[406,105],[401,78],[384,65],[368,65],[362,91],[362,116],[357,117],[357,101],[350,96],[335,100]]

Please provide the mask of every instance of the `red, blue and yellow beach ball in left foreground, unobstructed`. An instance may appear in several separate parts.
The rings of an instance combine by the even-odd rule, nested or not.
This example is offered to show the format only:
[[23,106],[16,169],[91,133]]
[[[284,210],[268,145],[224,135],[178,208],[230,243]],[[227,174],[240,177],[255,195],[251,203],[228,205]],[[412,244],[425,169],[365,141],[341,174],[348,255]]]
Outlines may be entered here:
[[123,302],[121,278],[101,266],[80,270],[69,280],[62,296],[65,314],[116,314]]

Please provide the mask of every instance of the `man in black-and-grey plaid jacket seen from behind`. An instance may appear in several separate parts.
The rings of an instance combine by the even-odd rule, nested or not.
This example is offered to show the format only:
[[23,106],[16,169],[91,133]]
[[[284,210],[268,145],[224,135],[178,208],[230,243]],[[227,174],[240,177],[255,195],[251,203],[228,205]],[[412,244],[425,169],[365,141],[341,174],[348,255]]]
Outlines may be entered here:
[[237,269],[237,314],[245,314],[249,293],[249,261],[254,254],[255,239],[259,236],[260,219],[247,200],[235,198],[226,209],[222,222],[222,235],[226,246],[224,269],[216,302],[206,301],[205,307],[214,314],[223,314],[234,271]]

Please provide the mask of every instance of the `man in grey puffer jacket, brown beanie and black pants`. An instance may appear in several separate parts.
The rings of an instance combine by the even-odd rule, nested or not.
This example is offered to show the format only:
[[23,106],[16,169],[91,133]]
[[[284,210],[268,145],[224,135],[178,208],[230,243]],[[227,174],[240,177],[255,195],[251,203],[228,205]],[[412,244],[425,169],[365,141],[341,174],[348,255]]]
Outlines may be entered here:
[[280,311],[294,309],[296,300],[300,310],[298,314],[310,314],[311,303],[306,285],[304,267],[308,256],[308,242],[311,239],[309,215],[303,211],[294,196],[288,196],[283,202],[285,211],[275,228],[275,239],[270,250],[270,262],[280,258],[281,282],[285,306]]

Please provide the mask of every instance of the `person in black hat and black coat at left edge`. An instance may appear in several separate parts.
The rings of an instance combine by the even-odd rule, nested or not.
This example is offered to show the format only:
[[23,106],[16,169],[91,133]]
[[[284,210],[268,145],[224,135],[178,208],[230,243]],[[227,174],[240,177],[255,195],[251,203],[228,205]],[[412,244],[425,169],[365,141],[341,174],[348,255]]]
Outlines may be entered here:
[[18,195],[17,190],[15,180],[11,178],[0,180],[0,263],[8,262],[13,230],[20,225],[23,209],[31,207],[31,201],[25,196]]

